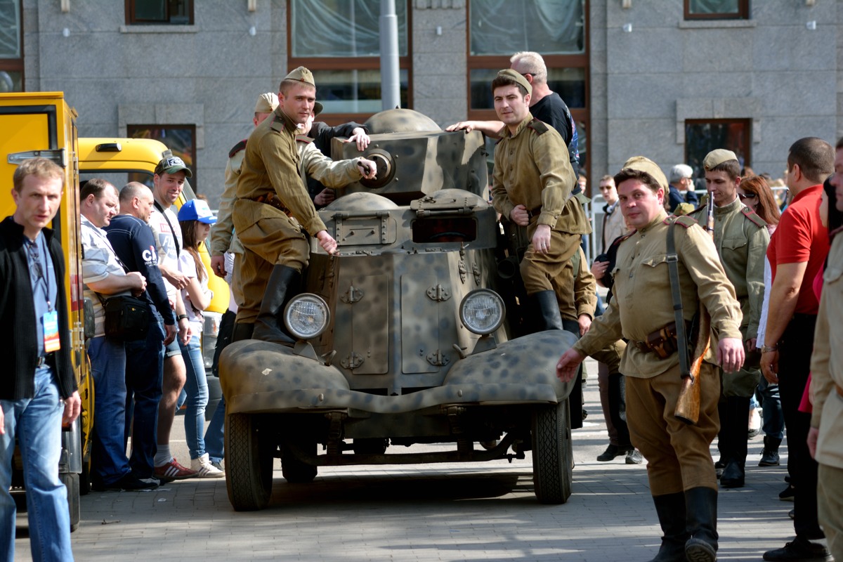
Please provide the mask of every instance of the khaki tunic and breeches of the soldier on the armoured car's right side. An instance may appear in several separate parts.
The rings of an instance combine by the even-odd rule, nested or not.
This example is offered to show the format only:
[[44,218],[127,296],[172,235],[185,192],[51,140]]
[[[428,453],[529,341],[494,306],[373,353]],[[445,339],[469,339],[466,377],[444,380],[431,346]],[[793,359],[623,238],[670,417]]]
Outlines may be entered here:
[[515,206],[524,205],[528,211],[541,207],[527,227],[530,239],[539,224],[550,226],[549,253],[534,251],[530,243],[521,262],[524,288],[530,295],[553,290],[552,280],[562,275],[581,235],[591,233],[583,206],[571,196],[577,178],[565,142],[552,127],[532,121],[528,114],[514,134],[502,128],[491,185],[492,205],[507,219]]

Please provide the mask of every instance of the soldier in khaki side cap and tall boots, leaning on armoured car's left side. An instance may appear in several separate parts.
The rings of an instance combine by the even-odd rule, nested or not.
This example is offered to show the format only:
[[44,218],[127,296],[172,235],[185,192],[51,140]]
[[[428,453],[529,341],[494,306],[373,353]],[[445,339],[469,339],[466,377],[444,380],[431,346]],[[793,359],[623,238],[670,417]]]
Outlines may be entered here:
[[[287,74],[278,88],[278,107],[252,131],[240,168],[234,230],[244,246],[244,302],[237,319],[255,324],[252,337],[257,340],[294,343],[282,314],[298,293],[309,262],[308,234],[329,254],[336,250],[336,240],[325,230],[299,175],[296,136],[313,113],[315,93],[307,68]],[[363,168],[362,161],[357,165],[365,177],[373,176],[374,169]],[[265,262],[272,265],[268,281],[260,275]]]

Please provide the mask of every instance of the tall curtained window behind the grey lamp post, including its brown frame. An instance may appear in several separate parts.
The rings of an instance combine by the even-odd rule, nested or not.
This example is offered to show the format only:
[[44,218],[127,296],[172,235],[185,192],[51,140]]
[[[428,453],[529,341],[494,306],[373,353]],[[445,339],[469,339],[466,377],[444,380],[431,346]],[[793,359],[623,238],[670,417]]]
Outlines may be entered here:
[[[290,0],[288,67],[308,67],[320,118],[332,124],[365,120],[382,110],[380,0]],[[410,107],[408,2],[395,2],[401,107]]]

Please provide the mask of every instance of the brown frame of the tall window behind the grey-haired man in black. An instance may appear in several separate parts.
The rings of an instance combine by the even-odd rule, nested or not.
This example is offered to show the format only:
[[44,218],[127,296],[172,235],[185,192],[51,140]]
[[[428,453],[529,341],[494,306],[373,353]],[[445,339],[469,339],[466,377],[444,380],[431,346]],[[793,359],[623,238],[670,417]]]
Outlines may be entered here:
[[[588,60],[589,56],[589,9],[588,4],[589,0],[584,0],[583,3],[583,52],[577,54],[568,54],[568,55],[545,55],[541,54],[541,57],[545,59],[545,65],[547,66],[548,70],[550,69],[561,69],[561,68],[582,68],[583,69],[583,80],[585,82],[585,92],[584,92],[584,106],[583,107],[571,107],[568,106],[568,110],[571,111],[571,117],[574,120],[575,124],[582,124],[583,130],[586,133],[585,139],[585,151],[580,150],[580,153],[585,152],[586,154],[586,163],[584,166],[581,165],[580,170],[583,174],[586,174],[589,178],[592,174],[589,173],[589,168],[591,166],[591,160],[588,158],[588,154],[591,152],[591,135],[589,134],[591,128],[591,109],[590,109],[590,100],[591,100],[591,89],[590,89],[590,64]],[[491,70],[502,70],[503,68],[509,68],[509,57],[512,55],[472,55],[471,54],[471,0],[466,0],[465,3],[465,62],[466,62],[466,72],[465,72],[465,96],[466,96],[466,107],[468,108],[468,115],[467,118],[469,120],[498,120],[497,114],[495,113],[494,109],[490,110],[475,110],[471,107],[471,71],[472,70],[481,70],[481,69],[491,69]],[[513,53],[514,55],[515,53]],[[491,84],[491,83],[490,83]],[[491,85],[490,85],[491,87]],[[567,104],[567,101],[565,102]],[[580,141],[582,142],[582,141]]]

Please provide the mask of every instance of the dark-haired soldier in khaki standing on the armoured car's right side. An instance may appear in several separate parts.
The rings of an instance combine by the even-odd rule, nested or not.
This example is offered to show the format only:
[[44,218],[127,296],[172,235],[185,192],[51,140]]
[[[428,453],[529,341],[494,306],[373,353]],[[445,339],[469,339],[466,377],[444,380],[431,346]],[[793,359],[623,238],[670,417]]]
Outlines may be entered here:
[[502,70],[491,88],[504,123],[495,147],[492,205],[502,217],[527,227],[530,244],[520,265],[524,288],[541,311],[540,329],[561,329],[553,280],[562,275],[591,225],[572,197],[577,178],[565,141],[529,113],[527,79]]

